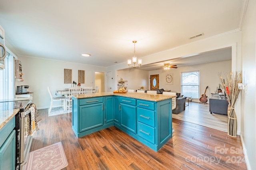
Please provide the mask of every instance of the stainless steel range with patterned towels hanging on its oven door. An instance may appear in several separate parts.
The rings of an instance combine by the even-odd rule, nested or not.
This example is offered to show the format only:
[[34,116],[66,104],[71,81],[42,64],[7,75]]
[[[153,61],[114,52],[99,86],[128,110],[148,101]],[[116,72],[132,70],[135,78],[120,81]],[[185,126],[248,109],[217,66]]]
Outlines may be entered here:
[[0,102],[1,110],[20,109],[15,116],[15,131],[16,131],[16,170],[22,169],[26,164],[30,146],[32,143],[32,136],[26,135],[26,127],[28,119],[30,119],[30,106],[32,100],[8,100]]

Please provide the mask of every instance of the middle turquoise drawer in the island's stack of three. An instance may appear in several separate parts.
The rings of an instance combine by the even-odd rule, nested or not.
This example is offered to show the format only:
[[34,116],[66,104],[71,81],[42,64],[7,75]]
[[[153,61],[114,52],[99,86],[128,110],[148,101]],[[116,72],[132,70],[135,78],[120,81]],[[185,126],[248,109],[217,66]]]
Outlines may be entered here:
[[155,111],[137,107],[137,121],[155,127]]

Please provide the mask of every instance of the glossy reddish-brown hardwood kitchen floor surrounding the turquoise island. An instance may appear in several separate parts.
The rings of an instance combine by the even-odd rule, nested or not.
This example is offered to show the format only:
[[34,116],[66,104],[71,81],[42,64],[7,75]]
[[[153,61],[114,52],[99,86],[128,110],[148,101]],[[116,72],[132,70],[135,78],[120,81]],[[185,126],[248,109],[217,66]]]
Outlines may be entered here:
[[71,113],[48,117],[47,109],[38,112],[40,130],[33,136],[30,151],[61,141],[66,170],[246,169],[240,137],[216,129],[173,119],[172,139],[154,152],[116,127],[77,138]]

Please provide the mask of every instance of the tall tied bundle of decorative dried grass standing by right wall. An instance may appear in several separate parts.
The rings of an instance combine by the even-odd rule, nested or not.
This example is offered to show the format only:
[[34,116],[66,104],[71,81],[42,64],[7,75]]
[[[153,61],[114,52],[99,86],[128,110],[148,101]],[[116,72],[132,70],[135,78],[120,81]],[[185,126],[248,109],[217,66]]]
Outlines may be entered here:
[[242,73],[219,73],[218,76],[221,86],[224,88],[228,98],[228,135],[231,137],[236,137],[237,120],[234,106],[240,92],[240,89],[238,89],[238,83],[242,83]]

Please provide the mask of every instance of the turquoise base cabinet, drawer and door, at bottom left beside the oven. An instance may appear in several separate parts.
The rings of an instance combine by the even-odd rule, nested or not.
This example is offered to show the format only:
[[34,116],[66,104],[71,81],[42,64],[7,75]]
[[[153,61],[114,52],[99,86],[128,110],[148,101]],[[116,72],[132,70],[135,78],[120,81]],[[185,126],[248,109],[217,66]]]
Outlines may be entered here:
[[0,170],[14,170],[16,156],[15,119],[12,118],[0,130]]

